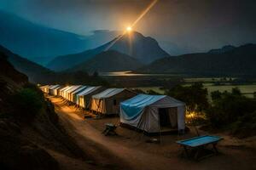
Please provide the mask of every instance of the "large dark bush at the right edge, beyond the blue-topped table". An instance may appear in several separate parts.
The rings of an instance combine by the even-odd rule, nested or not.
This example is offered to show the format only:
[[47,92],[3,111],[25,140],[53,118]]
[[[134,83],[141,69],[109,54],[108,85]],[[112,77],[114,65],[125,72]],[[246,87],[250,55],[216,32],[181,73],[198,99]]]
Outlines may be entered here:
[[206,116],[212,127],[224,127],[235,122],[246,124],[245,119],[251,119],[254,111],[255,99],[249,99],[239,89],[233,88],[231,93],[212,92],[212,105],[207,109]]

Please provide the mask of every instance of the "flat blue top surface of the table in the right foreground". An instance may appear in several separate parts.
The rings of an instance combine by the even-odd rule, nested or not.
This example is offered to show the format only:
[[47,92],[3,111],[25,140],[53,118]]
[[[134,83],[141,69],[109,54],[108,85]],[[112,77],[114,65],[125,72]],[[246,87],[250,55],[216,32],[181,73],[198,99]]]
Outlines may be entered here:
[[183,144],[190,147],[197,147],[205,144],[212,144],[212,143],[218,142],[221,139],[223,138],[219,136],[205,135],[205,136],[199,136],[191,139],[179,140],[177,141],[177,144]]

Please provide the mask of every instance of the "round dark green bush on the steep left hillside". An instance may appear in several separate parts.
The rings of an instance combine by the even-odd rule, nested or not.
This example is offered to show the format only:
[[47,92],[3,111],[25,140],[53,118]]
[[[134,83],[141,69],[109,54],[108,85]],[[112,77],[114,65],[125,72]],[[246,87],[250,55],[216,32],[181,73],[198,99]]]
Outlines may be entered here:
[[11,96],[14,115],[30,119],[38,114],[43,106],[44,99],[35,89],[23,88]]

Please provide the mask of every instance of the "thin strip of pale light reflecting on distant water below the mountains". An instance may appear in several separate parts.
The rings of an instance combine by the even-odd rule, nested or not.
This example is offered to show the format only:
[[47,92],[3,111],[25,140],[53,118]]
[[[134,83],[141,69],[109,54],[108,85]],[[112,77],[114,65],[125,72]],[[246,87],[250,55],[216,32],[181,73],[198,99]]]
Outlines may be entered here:
[[133,73],[131,71],[113,71],[113,72],[100,72],[102,77],[177,77],[182,75],[177,74],[142,74]]

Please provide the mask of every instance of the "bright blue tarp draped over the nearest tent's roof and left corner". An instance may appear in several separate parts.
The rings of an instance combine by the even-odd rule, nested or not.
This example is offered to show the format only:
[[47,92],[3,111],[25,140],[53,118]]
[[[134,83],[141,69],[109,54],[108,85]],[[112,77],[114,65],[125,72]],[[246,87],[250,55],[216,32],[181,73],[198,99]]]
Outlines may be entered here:
[[165,98],[166,95],[139,94],[134,98],[127,99],[121,103],[121,109],[125,111],[125,120],[130,121],[139,116],[147,105]]

